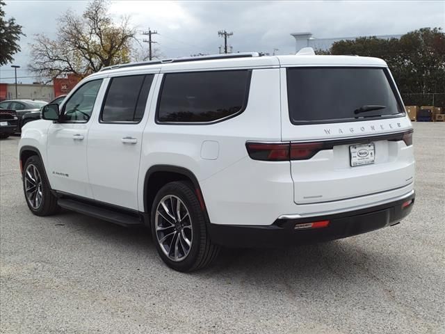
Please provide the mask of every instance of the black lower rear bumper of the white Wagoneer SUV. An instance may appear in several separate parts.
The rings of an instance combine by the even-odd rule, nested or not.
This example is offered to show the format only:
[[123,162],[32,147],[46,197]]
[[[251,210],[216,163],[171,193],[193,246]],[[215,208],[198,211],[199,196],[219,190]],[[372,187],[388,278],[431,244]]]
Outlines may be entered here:
[[[213,242],[227,247],[261,248],[329,241],[395,225],[410,214],[414,198],[413,192],[403,199],[366,209],[310,218],[277,219],[267,226],[209,224],[209,232]],[[410,205],[402,207],[409,201]],[[329,221],[329,225],[295,229],[296,224],[315,221]]]

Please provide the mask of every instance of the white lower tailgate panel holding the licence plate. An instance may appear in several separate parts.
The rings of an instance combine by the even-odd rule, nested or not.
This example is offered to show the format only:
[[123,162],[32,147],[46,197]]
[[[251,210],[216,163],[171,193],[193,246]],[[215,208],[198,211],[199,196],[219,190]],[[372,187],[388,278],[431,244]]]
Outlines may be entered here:
[[[406,145],[402,137],[395,134],[327,142],[325,149],[311,159],[291,161],[294,201],[310,204],[344,200],[412,183],[412,145]],[[373,157],[361,159],[357,152]]]

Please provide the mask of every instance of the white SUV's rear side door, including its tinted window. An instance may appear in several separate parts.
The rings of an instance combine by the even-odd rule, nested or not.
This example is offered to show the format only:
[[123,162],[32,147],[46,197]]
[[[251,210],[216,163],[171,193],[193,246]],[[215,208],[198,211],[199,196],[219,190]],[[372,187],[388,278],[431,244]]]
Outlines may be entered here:
[[88,174],[95,200],[138,209],[140,150],[153,80],[154,74],[109,80],[101,112],[88,134]]

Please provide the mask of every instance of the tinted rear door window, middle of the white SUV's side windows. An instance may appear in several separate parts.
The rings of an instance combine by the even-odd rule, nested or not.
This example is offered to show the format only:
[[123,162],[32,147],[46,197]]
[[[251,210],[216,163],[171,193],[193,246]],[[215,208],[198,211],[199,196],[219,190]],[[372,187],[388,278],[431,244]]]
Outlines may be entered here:
[[106,93],[102,122],[140,122],[154,74],[115,77]]

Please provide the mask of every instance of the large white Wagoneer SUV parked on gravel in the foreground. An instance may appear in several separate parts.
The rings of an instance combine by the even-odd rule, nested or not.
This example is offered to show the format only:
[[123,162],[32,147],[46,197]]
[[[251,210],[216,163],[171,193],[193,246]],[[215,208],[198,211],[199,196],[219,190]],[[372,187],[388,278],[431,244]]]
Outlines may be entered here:
[[325,241],[414,203],[412,125],[385,61],[229,54],[107,67],[22,130],[33,214],[145,224],[179,271],[220,246]]

